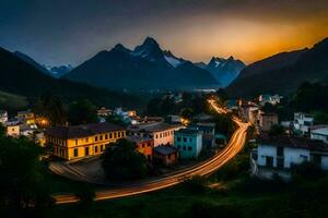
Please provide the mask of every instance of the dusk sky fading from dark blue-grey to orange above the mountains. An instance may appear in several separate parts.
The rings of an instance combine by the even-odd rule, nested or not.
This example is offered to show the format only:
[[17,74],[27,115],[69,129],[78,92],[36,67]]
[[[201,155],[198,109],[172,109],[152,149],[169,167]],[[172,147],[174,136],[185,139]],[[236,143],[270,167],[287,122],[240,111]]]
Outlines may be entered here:
[[177,57],[246,63],[328,37],[328,0],[1,0],[0,47],[78,65],[147,36]]

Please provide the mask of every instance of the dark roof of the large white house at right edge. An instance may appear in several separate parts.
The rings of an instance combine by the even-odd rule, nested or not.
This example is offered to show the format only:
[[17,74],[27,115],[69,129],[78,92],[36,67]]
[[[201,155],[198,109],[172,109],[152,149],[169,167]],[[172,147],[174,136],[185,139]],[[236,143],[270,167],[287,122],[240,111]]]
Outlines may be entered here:
[[304,137],[295,137],[289,135],[269,136],[268,134],[260,134],[258,142],[280,147],[294,147],[311,150],[328,152],[328,144],[321,141],[314,141]]

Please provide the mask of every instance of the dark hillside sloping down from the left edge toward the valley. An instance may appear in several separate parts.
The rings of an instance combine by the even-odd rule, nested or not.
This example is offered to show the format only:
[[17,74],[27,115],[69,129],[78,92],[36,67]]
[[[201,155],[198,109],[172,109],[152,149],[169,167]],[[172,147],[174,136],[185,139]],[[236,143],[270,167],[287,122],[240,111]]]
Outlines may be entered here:
[[[0,48],[0,90],[28,99],[37,98],[43,93],[61,95],[68,101],[89,98],[99,106],[132,107],[139,102],[136,97],[125,94],[54,78],[3,48]],[[8,105],[1,105],[1,107],[5,108]]]

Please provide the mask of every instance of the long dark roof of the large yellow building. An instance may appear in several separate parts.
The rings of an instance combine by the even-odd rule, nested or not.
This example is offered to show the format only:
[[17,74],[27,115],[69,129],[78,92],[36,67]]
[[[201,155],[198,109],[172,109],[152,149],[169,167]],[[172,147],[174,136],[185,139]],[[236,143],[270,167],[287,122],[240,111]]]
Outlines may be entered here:
[[102,134],[107,132],[124,131],[125,129],[119,125],[114,125],[107,122],[91,123],[71,126],[55,126],[46,130],[47,135],[56,136],[59,138],[79,138],[90,135]]

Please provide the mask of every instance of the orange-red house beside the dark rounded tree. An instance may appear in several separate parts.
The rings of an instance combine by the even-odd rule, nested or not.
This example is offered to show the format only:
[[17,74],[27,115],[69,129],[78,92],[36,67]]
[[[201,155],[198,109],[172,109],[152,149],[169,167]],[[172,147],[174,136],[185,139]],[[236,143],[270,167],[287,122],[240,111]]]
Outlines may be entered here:
[[153,160],[154,140],[138,135],[127,136],[126,140],[136,144],[139,153],[143,154],[148,161]]

